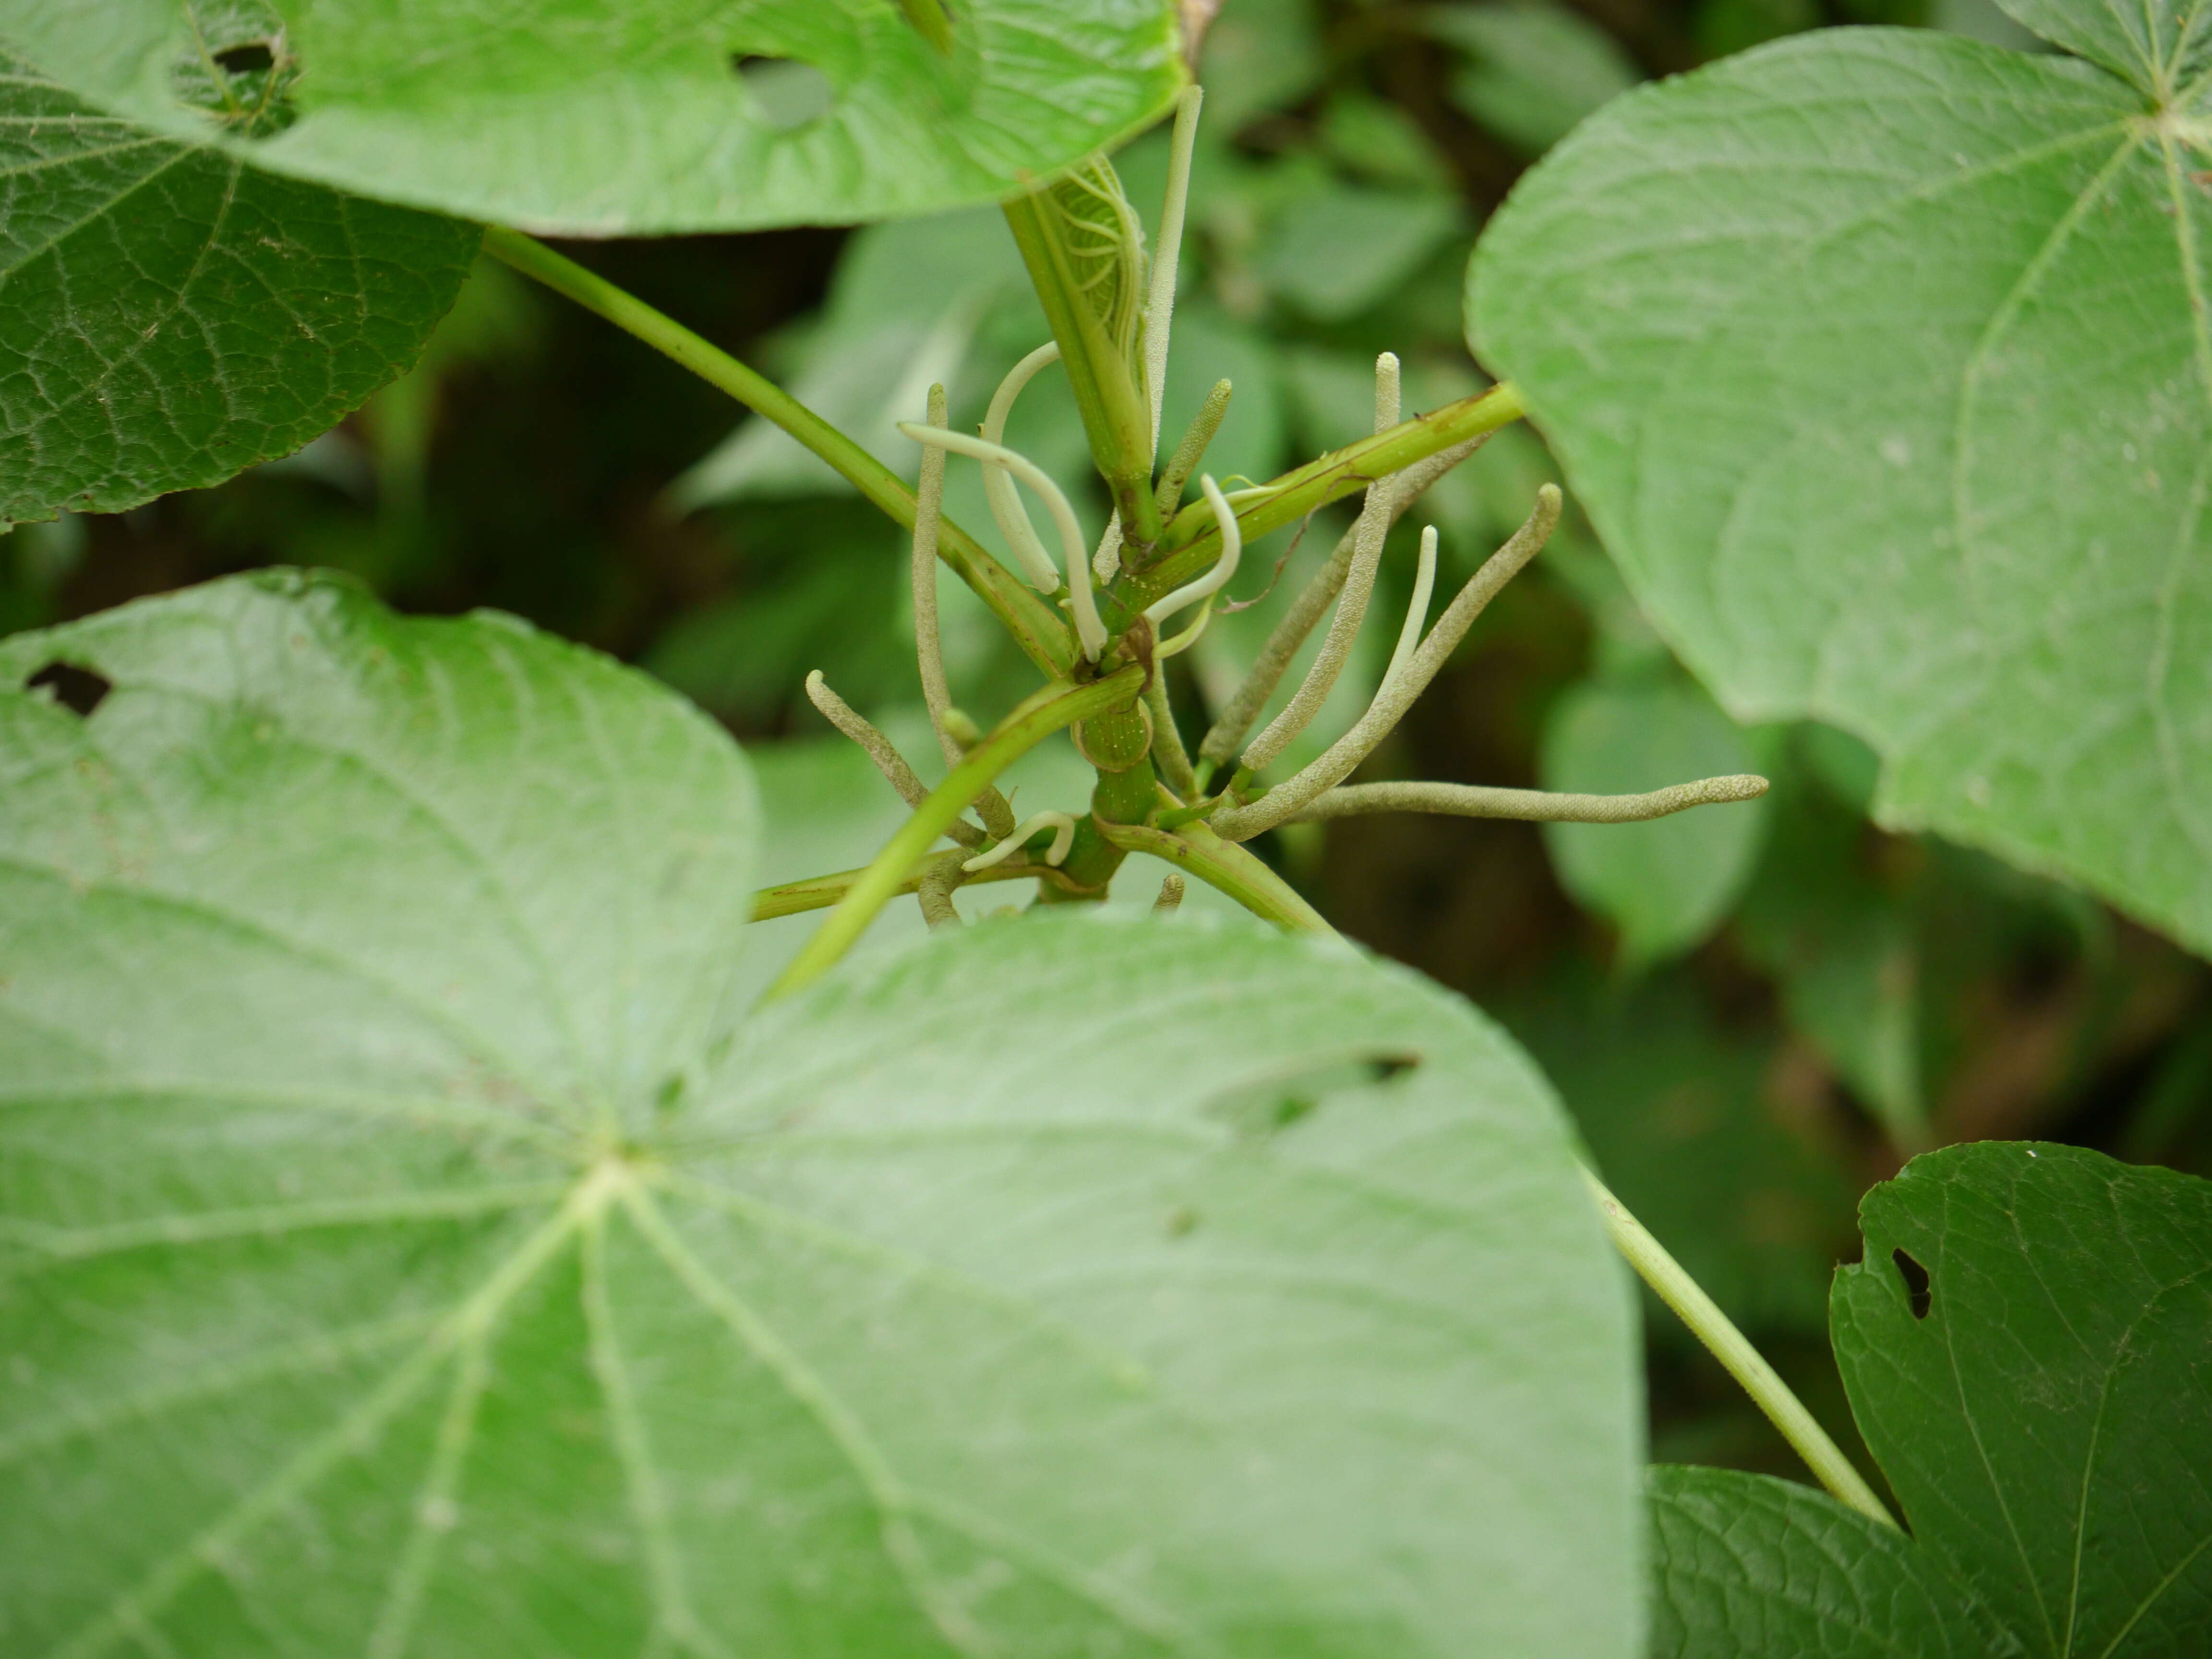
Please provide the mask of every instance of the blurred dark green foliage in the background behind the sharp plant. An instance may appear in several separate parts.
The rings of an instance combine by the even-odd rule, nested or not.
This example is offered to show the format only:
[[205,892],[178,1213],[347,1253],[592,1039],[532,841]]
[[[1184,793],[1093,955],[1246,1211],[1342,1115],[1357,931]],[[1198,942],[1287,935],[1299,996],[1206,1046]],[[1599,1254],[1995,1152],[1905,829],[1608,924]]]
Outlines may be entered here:
[[[1460,274],[1528,161],[1644,77],[1851,22],[2024,42],[1993,0],[1228,0],[1203,58],[1166,429],[1228,376],[1208,469],[1263,480],[1369,429],[1378,349],[1405,358],[1411,409],[1475,389]],[[1164,135],[1119,166],[1150,215]],[[1046,338],[989,208],[568,250],[781,376],[902,473],[914,453],[891,422],[920,414],[931,380],[953,422],[973,422]],[[254,564],[352,571],[409,611],[498,606],[646,666],[745,739],[772,816],[763,880],[849,867],[900,807],[825,734],[801,681],[825,670],[909,754],[929,750],[905,538],[741,416],[484,263],[422,365],[301,453],[0,540],[0,628]],[[1104,522],[1057,376],[1033,383],[1011,440]],[[1533,434],[1500,434],[1400,526],[1383,613],[1405,602],[1420,522],[1442,533],[1440,582],[1462,580],[1548,476]],[[989,529],[973,467],[953,467],[947,509]],[[1340,526],[1263,542],[1239,597],[1279,562],[1285,597]],[[995,717],[1033,677],[958,582],[940,586],[956,699]],[[1219,617],[1177,659],[1192,712],[1228,695],[1274,611]],[[1369,628],[1305,754],[1365,706],[1385,633]],[[1913,1150],[1975,1137],[2212,1172],[2212,969],[2077,891],[1874,827],[1871,752],[1818,726],[1734,726],[1573,518],[1365,776],[1644,790],[1743,770],[1774,792],[1650,825],[1352,818],[1261,852],[1345,931],[1511,1026],[1606,1179],[1847,1436],[1820,1332],[1858,1192]],[[1018,805],[1071,805],[1084,779],[1057,745],[1020,774]],[[1133,865],[1117,902],[1150,902],[1150,874]],[[810,925],[761,929],[763,982]],[[880,931],[914,927],[900,907]],[[1794,1473],[1657,1312],[1650,1345],[1657,1455]]]

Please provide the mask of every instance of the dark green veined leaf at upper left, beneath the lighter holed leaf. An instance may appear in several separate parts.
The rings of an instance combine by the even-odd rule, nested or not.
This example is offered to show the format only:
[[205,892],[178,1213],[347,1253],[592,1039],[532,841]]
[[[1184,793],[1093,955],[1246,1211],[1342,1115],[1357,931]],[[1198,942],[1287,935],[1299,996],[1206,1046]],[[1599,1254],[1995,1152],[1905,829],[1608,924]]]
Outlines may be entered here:
[[476,226],[272,179],[0,51],[0,522],[285,456],[405,369]]

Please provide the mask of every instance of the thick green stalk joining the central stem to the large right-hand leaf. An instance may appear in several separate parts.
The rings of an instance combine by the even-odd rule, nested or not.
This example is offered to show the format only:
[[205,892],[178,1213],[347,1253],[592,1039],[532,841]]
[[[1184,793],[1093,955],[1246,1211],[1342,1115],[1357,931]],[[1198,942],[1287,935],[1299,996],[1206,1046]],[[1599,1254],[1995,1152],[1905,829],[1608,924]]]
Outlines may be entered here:
[[[1272,529],[1305,518],[1307,513],[1367,489],[1376,478],[1402,471],[1416,460],[1462,445],[1469,438],[1509,427],[1526,414],[1520,387],[1511,380],[1493,385],[1489,392],[1447,403],[1425,416],[1400,420],[1374,438],[1332,449],[1318,460],[1310,460],[1296,471],[1265,484],[1265,495],[1237,502],[1237,526],[1245,544]],[[1135,573],[1121,599],[1141,611],[1201,571],[1212,568],[1221,557],[1221,526],[1214,524],[1206,502],[1192,502],[1175,522],[1159,533],[1159,544],[1139,573]]]

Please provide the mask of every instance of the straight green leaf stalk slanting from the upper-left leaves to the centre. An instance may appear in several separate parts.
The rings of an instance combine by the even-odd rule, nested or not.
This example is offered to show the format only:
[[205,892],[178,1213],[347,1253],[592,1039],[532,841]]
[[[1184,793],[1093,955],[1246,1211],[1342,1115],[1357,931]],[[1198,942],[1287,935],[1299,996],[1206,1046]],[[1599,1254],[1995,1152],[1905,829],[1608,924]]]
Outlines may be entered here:
[[[774,420],[843,473],[860,495],[909,531],[914,529],[914,491],[907,489],[905,480],[774,380],[748,369],[719,345],[692,334],[672,316],[664,316],[635,294],[615,288],[615,283],[553,252],[542,241],[524,237],[520,230],[491,226],[484,232],[484,252],[504,259],[555,294],[573,299],[586,312],[595,312],[615,327],[635,334],[708,385],[728,392],[765,420]],[[975,595],[1006,624],[1006,633],[1013,635],[1015,644],[1029,653],[1029,659],[1037,668],[1055,679],[1068,672],[1075,664],[1075,635],[1068,624],[1051,604],[1031,593],[1013,571],[993,560],[973,535],[951,520],[940,520],[938,557],[962,582],[975,588]]]

